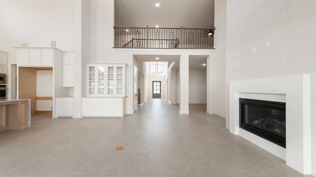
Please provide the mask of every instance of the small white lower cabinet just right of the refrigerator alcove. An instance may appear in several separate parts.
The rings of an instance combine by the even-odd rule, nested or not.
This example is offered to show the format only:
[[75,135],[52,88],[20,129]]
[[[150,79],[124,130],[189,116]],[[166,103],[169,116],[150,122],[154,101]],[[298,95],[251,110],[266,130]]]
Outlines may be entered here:
[[56,98],[56,116],[72,117],[73,98]]

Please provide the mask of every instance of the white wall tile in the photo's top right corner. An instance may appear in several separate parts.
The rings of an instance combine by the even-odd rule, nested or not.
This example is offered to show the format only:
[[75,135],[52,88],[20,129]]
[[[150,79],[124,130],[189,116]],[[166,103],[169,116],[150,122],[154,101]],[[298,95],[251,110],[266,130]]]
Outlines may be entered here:
[[289,20],[314,9],[316,1],[314,0],[292,0],[289,2]]

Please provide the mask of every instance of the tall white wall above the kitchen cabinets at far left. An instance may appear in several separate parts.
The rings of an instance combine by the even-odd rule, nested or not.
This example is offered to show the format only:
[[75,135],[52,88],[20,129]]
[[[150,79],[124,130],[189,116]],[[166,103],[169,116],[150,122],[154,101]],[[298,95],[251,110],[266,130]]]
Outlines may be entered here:
[[[57,48],[72,51],[74,1],[0,1],[0,50],[9,52],[9,73],[11,64],[16,64],[13,47],[30,43],[31,47],[50,47],[57,41]],[[15,92],[10,87],[9,92]],[[11,96],[11,94],[9,94]]]

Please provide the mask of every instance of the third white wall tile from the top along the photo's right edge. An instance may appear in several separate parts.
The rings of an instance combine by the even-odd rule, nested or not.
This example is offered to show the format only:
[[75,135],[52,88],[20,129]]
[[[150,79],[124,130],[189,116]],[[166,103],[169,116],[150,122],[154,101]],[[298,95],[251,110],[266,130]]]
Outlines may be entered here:
[[289,57],[316,51],[315,39],[316,30],[289,39]]

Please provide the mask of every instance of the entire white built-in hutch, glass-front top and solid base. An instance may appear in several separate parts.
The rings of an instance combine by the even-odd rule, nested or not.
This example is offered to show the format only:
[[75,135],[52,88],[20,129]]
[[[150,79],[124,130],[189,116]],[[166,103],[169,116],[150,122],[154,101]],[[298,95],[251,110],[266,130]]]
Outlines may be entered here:
[[82,116],[123,117],[126,114],[126,64],[87,64],[87,98]]

